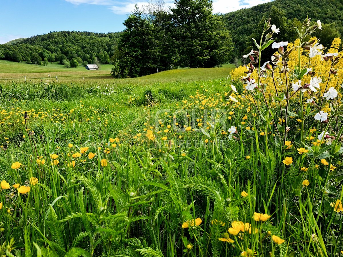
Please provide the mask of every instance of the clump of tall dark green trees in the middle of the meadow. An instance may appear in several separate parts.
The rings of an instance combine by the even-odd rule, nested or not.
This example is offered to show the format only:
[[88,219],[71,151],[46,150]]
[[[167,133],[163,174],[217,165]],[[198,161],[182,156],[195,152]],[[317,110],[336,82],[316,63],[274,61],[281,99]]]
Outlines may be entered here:
[[221,66],[230,58],[233,43],[223,18],[213,14],[212,1],[149,2],[123,23],[125,30],[113,57],[114,77],[137,77],[178,66]]

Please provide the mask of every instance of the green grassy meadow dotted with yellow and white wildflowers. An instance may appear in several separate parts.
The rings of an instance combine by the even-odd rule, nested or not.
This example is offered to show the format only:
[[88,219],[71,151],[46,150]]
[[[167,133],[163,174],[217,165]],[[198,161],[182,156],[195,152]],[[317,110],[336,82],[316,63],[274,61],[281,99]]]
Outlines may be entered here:
[[0,256],[343,256],[335,40],[263,71],[0,61]]

